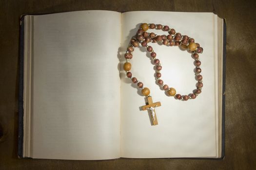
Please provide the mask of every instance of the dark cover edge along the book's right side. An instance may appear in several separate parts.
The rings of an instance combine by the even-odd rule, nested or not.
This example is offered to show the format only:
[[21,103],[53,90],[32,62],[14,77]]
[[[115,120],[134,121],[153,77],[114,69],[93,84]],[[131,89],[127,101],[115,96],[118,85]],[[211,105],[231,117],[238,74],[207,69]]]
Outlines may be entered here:
[[223,19],[223,75],[222,75],[222,149],[221,149],[221,159],[225,157],[225,91],[226,91],[226,43],[227,43],[227,33],[226,33],[226,20]]

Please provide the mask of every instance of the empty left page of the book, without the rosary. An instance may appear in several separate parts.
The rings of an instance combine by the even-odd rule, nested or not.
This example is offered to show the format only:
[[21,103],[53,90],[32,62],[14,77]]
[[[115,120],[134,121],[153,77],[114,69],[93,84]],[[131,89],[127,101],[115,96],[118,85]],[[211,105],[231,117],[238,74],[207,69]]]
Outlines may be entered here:
[[120,155],[120,13],[34,16],[33,158]]

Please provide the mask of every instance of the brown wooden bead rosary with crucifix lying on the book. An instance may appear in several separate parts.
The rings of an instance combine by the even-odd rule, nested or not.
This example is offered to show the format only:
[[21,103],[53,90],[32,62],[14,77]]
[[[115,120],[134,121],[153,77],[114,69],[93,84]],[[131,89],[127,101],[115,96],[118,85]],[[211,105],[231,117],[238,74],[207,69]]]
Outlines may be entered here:
[[[168,35],[157,35],[155,33],[148,33],[146,32],[148,29],[157,29],[168,32]],[[151,46],[148,46],[148,43],[157,43],[161,42],[163,45],[166,46],[180,46],[182,49],[187,50],[188,52],[192,53],[192,57],[195,59],[194,65],[196,66],[195,73],[196,73],[196,80],[197,80],[197,89],[193,90],[193,93],[189,95],[180,95],[176,93],[176,89],[170,87],[168,85],[163,84],[163,80],[160,79],[161,73],[160,70],[162,66],[160,64],[159,59],[156,58],[157,53],[153,50]],[[202,75],[201,73],[201,62],[199,61],[198,53],[203,52],[203,48],[200,47],[198,43],[195,43],[195,39],[189,37],[188,35],[181,35],[180,33],[176,33],[174,29],[170,29],[169,26],[161,25],[161,24],[147,24],[143,23],[140,25],[137,34],[131,39],[129,47],[127,48],[124,57],[126,62],[123,65],[123,69],[126,71],[126,76],[132,80],[133,83],[137,83],[137,86],[141,88],[141,93],[147,98],[148,103],[147,105],[142,106],[142,110],[149,110],[151,113],[151,120],[153,125],[158,124],[158,119],[156,116],[155,108],[161,106],[160,102],[153,102],[152,97],[150,96],[150,90],[147,87],[143,86],[142,82],[139,82],[136,77],[132,76],[130,72],[132,65],[129,63],[129,60],[133,58],[133,51],[135,47],[139,46],[139,43],[142,47],[145,47],[147,51],[151,54],[151,57],[154,60],[156,65],[156,78],[158,80],[158,84],[162,86],[163,90],[167,91],[169,96],[174,96],[175,99],[181,101],[187,101],[189,99],[195,99],[198,94],[201,93],[201,88],[203,87],[202,83]]]

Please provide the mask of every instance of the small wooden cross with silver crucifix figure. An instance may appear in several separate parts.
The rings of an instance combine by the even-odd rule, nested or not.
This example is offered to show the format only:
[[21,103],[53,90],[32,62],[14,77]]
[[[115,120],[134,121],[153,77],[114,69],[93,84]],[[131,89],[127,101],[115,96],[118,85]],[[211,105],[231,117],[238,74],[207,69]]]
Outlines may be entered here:
[[153,103],[151,96],[147,97],[147,100],[148,100],[148,104],[142,106],[142,110],[149,110],[153,125],[157,125],[158,119],[157,119],[157,115],[155,112],[155,107],[161,106],[161,103],[160,102]]

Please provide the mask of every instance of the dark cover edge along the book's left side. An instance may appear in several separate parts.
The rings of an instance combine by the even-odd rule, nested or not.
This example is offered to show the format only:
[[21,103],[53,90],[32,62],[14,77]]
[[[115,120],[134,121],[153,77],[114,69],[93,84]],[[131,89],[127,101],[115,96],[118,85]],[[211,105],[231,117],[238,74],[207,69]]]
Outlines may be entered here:
[[20,17],[20,61],[19,61],[19,130],[18,157],[23,157],[23,67],[24,67],[24,16]]

